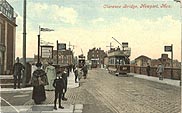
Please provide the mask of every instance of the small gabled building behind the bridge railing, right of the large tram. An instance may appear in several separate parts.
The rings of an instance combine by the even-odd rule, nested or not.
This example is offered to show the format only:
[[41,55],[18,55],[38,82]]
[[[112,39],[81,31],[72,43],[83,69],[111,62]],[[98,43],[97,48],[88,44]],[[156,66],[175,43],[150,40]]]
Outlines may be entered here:
[[135,58],[135,64],[137,66],[147,66],[147,63],[151,64],[151,58],[141,55]]

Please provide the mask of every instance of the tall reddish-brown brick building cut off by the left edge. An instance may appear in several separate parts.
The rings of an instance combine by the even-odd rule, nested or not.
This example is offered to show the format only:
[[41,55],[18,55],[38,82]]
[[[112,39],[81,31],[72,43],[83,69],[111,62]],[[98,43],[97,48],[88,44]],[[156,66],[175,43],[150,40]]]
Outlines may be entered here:
[[10,74],[15,63],[16,17],[13,7],[0,2],[0,74]]

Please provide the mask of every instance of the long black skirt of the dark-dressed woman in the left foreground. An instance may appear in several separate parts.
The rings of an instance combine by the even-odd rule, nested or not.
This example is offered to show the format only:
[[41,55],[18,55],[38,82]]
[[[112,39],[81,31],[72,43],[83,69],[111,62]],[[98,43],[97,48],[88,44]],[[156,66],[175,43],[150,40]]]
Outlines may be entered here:
[[46,100],[45,88],[43,85],[33,87],[32,99],[36,104],[40,104],[42,101]]

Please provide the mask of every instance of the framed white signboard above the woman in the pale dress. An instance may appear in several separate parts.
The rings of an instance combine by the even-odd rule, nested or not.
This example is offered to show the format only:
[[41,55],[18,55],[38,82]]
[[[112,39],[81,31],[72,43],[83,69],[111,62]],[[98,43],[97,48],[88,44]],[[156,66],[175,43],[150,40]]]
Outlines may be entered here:
[[53,48],[49,46],[41,46],[41,56],[42,58],[52,58]]

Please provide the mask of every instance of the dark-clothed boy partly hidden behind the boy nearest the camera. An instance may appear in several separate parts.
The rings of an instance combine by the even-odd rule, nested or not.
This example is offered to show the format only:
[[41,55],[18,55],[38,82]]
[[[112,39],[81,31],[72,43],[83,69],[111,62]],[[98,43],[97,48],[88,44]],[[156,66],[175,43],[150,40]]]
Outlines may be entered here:
[[63,96],[62,96],[62,100],[67,100],[67,98],[65,98],[65,94],[66,94],[66,91],[67,91],[67,85],[68,85],[68,70],[67,68],[65,67],[64,71],[62,72],[62,78],[65,82],[65,91],[63,92]]

